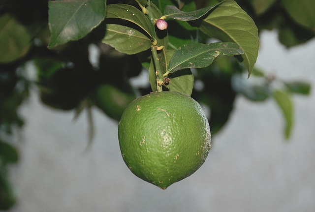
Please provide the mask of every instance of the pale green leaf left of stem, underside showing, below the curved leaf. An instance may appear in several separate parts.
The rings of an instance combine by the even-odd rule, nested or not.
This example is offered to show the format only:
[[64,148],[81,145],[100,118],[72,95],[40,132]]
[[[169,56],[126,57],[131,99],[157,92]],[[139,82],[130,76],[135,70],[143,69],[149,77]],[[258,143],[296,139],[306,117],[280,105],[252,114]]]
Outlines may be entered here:
[[128,55],[137,54],[151,47],[151,39],[146,34],[119,24],[106,24],[102,42]]

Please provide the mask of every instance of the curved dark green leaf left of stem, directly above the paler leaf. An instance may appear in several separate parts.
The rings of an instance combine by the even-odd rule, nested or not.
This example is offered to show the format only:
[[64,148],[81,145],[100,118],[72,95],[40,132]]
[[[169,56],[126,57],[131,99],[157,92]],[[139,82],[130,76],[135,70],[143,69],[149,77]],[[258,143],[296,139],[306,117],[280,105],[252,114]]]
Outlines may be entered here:
[[117,18],[132,22],[152,37],[152,28],[149,20],[134,6],[127,4],[110,4],[107,6],[106,19],[108,18]]

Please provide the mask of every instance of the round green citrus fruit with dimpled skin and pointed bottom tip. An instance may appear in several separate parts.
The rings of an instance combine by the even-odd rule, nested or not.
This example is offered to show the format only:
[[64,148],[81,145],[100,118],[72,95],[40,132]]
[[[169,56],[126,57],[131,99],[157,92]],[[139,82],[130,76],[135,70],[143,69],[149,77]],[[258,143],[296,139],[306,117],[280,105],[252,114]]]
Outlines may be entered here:
[[122,115],[118,137],[131,172],[162,189],[193,174],[211,149],[201,106],[179,92],[152,92],[132,101]]

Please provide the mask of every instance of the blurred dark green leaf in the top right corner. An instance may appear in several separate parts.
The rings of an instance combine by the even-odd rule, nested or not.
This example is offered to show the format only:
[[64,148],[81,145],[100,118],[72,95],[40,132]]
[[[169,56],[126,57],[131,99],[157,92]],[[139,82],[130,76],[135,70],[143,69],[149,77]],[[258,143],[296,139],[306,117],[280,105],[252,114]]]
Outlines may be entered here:
[[315,0],[282,0],[282,3],[296,23],[315,31]]

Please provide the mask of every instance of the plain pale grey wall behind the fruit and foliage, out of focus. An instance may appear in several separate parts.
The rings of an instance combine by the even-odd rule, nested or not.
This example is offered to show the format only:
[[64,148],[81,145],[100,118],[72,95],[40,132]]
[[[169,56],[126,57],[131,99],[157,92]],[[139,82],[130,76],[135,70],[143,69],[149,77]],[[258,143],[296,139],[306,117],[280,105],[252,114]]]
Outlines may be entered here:
[[[263,32],[256,66],[314,86],[315,40],[287,51],[275,31]],[[21,110],[27,121],[18,137],[21,159],[10,172],[20,199],[11,212],[313,212],[314,91],[293,100],[295,126],[285,141],[274,101],[238,96],[204,165],[164,191],[127,169],[117,122],[95,109],[95,142],[83,152],[86,116],[72,121],[73,112],[47,108],[34,91]]]

